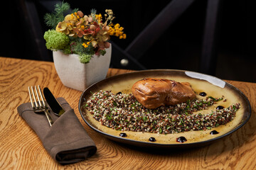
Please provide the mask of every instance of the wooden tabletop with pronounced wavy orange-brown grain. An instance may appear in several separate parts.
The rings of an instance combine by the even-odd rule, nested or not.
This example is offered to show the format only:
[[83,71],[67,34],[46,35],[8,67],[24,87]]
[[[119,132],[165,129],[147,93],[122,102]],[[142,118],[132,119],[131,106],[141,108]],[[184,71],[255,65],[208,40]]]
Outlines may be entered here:
[[[110,69],[107,77],[131,70]],[[256,84],[228,81],[249,99],[248,123],[211,145],[184,150],[151,151],[122,145],[91,130],[78,111],[81,91],[61,83],[53,62],[0,57],[0,169],[256,169]],[[64,97],[97,145],[97,153],[83,162],[56,163],[36,133],[18,115],[17,107],[29,101],[28,86],[48,86]]]

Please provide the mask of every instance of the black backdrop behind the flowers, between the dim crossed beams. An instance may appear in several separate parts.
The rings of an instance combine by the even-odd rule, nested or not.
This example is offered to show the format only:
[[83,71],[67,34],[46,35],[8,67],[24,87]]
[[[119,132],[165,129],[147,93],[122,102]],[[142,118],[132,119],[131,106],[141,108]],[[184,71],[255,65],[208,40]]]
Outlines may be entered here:
[[[0,56],[53,61],[50,50],[47,51],[45,58],[38,57],[40,54],[35,44],[40,39],[33,37],[24,2],[26,1],[16,0],[6,2],[8,6],[1,6]],[[32,2],[37,9],[34,16],[40,19],[38,23],[41,27],[38,28],[37,33],[39,35],[41,33],[41,38],[43,38],[43,33],[49,29],[43,22],[43,16],[53,10],[55,1]],[[125,49],[169,4],[170,0],[67,2],[71,8],[80,8],[85,14],[90,14],[91,8],[97,9],[97,12],[102,14],[105,13],[106,8],[111,8],[116,16],[114,23],[123,26],[127,34],[126,40],[112,38],[112,41]],[[138,62],[146,69],[184,69],[199,72],[206,5],[207,1],[195,1]],[[256,82],[254,26],[256,15],[252,1],[225,0],[220,16],[218,48],[216,49],[217,62],[213,75],[220,79]],[[43,45],[41,48],[46,47]],[[117,66],[111,64],[111,67]]]

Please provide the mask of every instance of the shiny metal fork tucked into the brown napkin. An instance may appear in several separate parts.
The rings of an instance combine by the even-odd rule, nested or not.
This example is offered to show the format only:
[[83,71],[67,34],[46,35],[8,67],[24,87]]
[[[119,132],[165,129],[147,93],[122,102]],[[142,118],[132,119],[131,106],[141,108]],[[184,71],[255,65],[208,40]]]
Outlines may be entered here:
[[[42,91],[41,91],[39,85],[38,85],[38,90],[36,89],[36,86],[35,86],[35,91],[36,91],[36,96],[37,96],[38,100],[36,100],[36,96],[35,96],[35,93],[33,91],[33,86],[31,86],[31,89],[28,86],[28,94],[29,94],[29,98],[31,100],[31,106],[33,108],[33,112],[35,112],[35,113],[43,113],[44,112],[46,114],[46,118],[47,118],[50,126],[52,126],[53,125],[53,120],[52,120],[52,118],[50,118],[50,113],[48,111],[48,108],[46,107],[46,103],[45,103],[45,100],[43,98],[43,94],[42,94]],[[39,91],[39,94],[41,96],[41,100],[39,98],[38,91]],[[32,96],[33,96],[33,98],[32,98]]]

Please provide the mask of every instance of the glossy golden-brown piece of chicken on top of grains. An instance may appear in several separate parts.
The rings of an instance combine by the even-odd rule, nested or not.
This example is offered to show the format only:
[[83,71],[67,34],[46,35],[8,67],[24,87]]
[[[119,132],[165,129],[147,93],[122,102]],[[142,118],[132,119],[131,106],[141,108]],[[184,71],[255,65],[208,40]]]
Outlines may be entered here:
[[175,105],[196,98],[188,82],[154,78],[137,81],[132,86],[132,94],[146,108]]

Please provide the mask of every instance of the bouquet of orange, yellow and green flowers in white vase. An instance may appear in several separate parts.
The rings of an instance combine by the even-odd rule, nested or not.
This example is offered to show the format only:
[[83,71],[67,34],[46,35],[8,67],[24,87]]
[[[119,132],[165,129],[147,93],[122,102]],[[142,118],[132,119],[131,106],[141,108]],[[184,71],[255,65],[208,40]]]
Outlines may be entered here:
[[105,21],[95,9],[90,15],[74,9],[64,17],[70,9],[68,3],[55,5],[54,13],[46,13],[46,25],[52,27],[46,31],[43,38],[48,50],[63,50],[65,54],[79,55],[80,62],[90,62],[92,55],[105,55],[105,49],[110,47],[110,36],[125,39],[123,27],[112,23],[114,13],[111,9],[105,10]]

